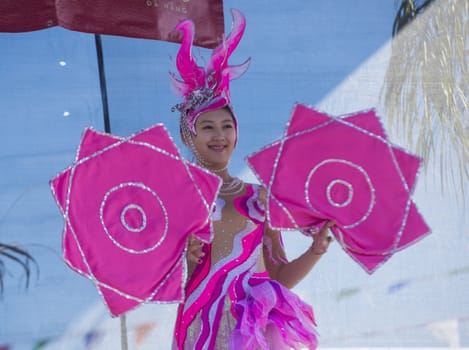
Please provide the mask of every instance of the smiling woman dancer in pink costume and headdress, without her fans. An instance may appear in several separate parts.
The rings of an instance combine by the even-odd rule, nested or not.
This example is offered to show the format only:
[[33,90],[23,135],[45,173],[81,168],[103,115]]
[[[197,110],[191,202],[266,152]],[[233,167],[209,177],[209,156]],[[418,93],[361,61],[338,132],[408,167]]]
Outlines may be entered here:
[[175,106],[181,137],[196,162],[220,176],[223,185],[212,217],[213,241],[189,240],[186,298],[178,310],[173,348],[314,349],[312,308],[289,288],[327,251],[328,228],[334,223],[326,223],[312,245],[288,262],[280,233],[265,223],[265,190],[228,171],[238,137],[229,82],[249,65],[249,60],[228,65],[245,28],[244,16],[231,12],[232,31],[205,69],[191,54],[193,23],[184,21],[177,27],[183,32],[176,59],[180,79],[171,74],[171,82],[184,98]]

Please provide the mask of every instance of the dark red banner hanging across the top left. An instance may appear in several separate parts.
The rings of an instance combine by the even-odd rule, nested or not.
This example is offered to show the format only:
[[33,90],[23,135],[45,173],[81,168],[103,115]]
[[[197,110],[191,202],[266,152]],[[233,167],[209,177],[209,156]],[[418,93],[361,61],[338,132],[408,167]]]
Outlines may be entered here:
[[180,42],[174,27],[195,23],[194,45],[213,48],[224,31],[223,0],[1,0],[0,32],[61,26],[80,32]]

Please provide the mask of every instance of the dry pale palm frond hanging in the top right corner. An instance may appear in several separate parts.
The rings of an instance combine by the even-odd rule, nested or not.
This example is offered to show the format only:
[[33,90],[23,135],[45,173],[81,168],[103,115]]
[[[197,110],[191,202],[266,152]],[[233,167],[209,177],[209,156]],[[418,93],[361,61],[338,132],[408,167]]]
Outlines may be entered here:
[[416,8],[415,1],[403,0],[400,12],[381,92],[389,129],[404,135],[426,168],[438,169],[443,192],[451,188],[464,198],[469,180],[469,2],[431,0]]

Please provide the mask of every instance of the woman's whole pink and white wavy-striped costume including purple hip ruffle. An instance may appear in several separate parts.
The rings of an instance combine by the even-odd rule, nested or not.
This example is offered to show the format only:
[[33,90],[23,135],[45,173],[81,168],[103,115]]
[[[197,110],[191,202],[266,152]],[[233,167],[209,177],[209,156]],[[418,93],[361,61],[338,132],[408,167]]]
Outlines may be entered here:
[[234,200],[246,226],[233,235],[231,251],[216,261],[211,244],[205,245],[203,261],[186,284],[173,349],[316,348],[312,308],[265,271],[264,211],[258,196],[259,187],[247,185]]

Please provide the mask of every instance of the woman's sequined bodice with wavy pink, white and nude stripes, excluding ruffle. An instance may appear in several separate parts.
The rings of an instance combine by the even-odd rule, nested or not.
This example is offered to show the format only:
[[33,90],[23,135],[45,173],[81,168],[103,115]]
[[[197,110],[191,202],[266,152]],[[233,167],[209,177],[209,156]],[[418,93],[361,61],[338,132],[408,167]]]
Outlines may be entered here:
[[243,192],[217,200],[212,243],[204,246],[207,255],[190,273],[186,300],[178,310],[175,337],[183,344],[180,349],[227,348],[235,326],[232,305],[246,297],[251,277],[265,271],[259,187],[246,184]]

